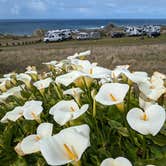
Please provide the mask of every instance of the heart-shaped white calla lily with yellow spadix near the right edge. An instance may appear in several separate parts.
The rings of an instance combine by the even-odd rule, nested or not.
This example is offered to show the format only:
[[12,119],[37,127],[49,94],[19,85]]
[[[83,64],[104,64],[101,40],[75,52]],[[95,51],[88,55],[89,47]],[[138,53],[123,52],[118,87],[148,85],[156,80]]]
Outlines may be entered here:
[[127,114],[130,127],[143,135],[155,136],[164,125],[165,119],[165,110],[158,104],[147,107],[145,111],[133,108]]

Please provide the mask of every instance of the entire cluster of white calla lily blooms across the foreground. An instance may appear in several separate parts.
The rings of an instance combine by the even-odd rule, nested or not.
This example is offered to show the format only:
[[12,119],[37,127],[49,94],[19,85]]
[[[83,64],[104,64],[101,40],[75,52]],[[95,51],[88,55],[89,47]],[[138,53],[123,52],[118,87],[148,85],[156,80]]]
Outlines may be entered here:
[[[0,103],[6,104],[10,96],[23,98],[21,92],[32,87],[44,95],[51,84],[56,86],[57,93],[58,86],[63,86],[62,93],[58,93],[61,100],[50,108],[49,114],[57,124],[64,126],[87,113],[90,108],[88,101],[85,104],[80,102],[80,95],[86,93],[81,85],[88,89],[92,82],[97,81],[99,90],[91,92],[93,106],[96,103],[105,106],[115,105],[121,112],[125,112],[124,100],[134,84],[138,88],[139,106],[126,113],[128,125],[142,135],[157,135],[166,120],[165,109],[163,105],[158,104],[159,98],[164,97],[166,93],[166,76],[159,72],[154,72],[151,77],[146,72],[130,72],[129,65],[109,70],[97,66],[97,63],[83,60],[90,54],[90,51],[86,51],[69,56],[67,60],[44,63],[50,69],[50,72],[44,75],[39,75],[35,67],[28,67],[25,73],[4,75],[0,79]],[[72,99],[65,100],[63,96],[67,95]],[[93,109],[95,116],[95,106]],[[42,101],[29,100],[7,112],[1,119],[1,123],[15,122],[19,118],[40,123],[36,134],[25,137],[17,144],[16,152],[23,156],[40,151],[49,165],[78,163],[84,151],[91,146],[90,127],[81,124],[53,134],[53,124],[41,123],[41,114],[44,114]],[[101,166],[122,165],[132,166],[124,157],[107,158],[101,163]]]

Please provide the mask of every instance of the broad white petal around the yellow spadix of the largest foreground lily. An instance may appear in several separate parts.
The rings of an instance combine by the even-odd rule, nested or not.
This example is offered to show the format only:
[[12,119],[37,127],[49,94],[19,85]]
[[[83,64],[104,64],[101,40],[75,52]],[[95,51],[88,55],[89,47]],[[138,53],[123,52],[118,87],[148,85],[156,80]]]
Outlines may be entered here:
[[70,129],[64,129],[63,132],[53,137],[41,140],[41,153],[49,165],[64,165],[72,161],[64,148],[64,144],[76,153],[77,160],[79,160],[90,142],[89,137],[84,137],[77,131]]

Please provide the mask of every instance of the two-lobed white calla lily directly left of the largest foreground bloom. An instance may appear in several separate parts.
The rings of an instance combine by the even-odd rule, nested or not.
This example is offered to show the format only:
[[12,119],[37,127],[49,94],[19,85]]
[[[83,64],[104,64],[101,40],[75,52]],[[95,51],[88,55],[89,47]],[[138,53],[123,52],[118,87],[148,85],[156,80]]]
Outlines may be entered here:
[[40,151],[39,142],[46,138],[48,139],[52,135],[53,124],[41,123],[37,128],[37,134],[32,134],[25,137],[21,141],[21,150],[24,154],[31,154]]

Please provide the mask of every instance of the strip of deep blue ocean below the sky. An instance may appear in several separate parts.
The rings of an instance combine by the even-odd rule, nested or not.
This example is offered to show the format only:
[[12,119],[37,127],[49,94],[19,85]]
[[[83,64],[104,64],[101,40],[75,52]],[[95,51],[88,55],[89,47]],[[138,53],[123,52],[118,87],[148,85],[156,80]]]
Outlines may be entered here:
[[31,35],[36,29],[93,29],[113,23],[117,26],[126,25],[166,25],[166,19],[16,19],[0,20],[0,33],[15,35]]

